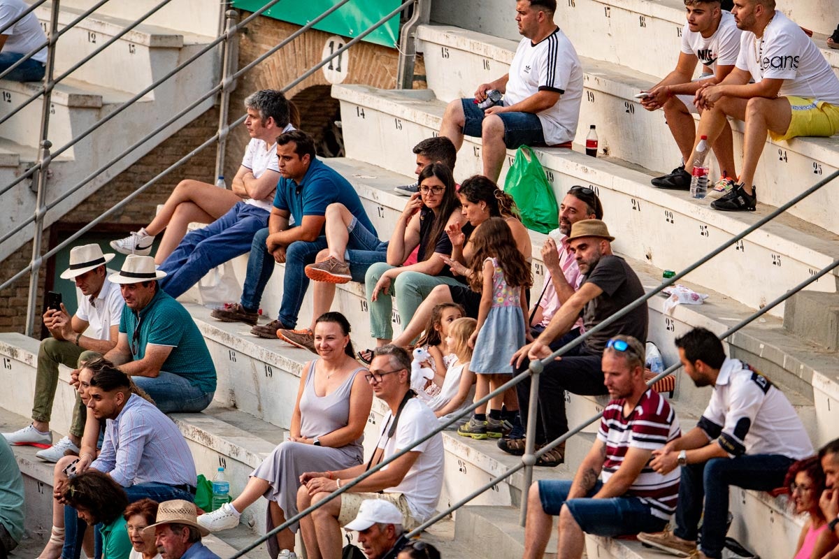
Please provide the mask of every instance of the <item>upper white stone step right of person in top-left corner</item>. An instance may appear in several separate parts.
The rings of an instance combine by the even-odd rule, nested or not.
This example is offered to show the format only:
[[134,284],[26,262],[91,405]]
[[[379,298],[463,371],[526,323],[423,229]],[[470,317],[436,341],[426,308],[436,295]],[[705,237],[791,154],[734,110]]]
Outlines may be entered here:
[[[51,3],[44,3],[35,13],[44,27],[51,17]],[[78,18],[83,10],[65,8],[59,12],[59,29]],[[102,47],[127,28],[132,20],[93,13],[61,35],[55,56],[55,75],[60,75],[81,59]],[[211,37],[201,42],[206,44]],[[171,28],[141,23],[122,39],[104,49],[73,73],[76,80],[136,94],[154,80],[175,68],[182,59],[184,35]],[[154,91],[145,99],[154,99]]]

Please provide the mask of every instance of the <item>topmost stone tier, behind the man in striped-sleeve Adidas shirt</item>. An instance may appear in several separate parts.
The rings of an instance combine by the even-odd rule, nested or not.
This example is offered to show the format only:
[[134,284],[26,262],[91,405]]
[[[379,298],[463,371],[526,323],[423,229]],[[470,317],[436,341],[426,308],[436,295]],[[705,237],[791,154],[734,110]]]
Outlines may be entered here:
[[[834,68],[839,68],[839,53],[825,44],[826,35],[836,26],[836,21],[824,18],[824,14],[835,11],[831,11],[830,0],[787,0],[779,7],[796,23],[817,32],[813,36],[816,46]],[[675,67],[685,26],[685,6],[679,0],[568,0],[560,8],[555,22],[578,54],[659,77]],[[512,7],[498,9],[491,0],[435,2],[431,10],[434,22],[518,43],[521,36],[514,16]]]

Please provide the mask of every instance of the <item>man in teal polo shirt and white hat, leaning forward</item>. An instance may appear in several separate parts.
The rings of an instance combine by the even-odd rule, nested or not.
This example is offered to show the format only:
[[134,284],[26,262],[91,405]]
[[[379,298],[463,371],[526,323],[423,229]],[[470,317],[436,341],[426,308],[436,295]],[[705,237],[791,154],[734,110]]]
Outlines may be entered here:
[[120,365],[160,411],[201,411],[216,391],[216,368],[190,313],[161,291],[166,272],[151,256],[130,255],[109,278],[120,285],[125,307],[117,347],[105,357]]

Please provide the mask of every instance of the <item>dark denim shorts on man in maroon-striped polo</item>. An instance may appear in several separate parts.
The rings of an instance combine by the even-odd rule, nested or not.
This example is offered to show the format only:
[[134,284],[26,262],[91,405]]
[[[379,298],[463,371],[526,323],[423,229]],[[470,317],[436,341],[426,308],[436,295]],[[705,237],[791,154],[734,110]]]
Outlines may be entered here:
[[542,510],[549,515],[559,515],[562,505],[586,534],[595,536],[632,536],[638,532],[660,532],[667,520],[654,516],[650,506],[632,496],[611,499],[591,499],[603,484],[598,481],[583,499],[568,500],[571,481],[542,479],[539,482],[539,500]]

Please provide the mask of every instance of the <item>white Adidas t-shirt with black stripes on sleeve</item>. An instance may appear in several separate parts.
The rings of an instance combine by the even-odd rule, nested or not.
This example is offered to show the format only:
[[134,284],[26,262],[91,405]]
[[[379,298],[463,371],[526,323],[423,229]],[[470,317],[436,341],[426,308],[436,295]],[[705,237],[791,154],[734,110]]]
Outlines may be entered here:
[[569,142],[576,134],[582,99],[582,66],[560,28],[537,44],[522,39],[510,65],[504,104],[514,105],[538,91],[558,91],[560,101],[536,114],[545,143]]

